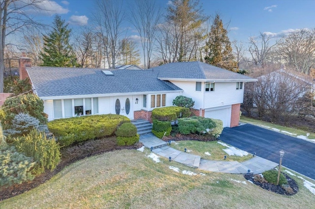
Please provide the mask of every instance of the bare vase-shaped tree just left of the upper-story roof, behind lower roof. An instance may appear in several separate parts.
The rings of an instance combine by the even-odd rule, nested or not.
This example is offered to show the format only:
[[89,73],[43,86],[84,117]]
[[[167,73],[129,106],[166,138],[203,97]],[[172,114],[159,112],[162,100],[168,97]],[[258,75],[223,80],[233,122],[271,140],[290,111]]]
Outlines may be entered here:
[[129,20],[141,38],[144,66],[150,68],[161,10],[155,1],[136,0],[131,5],[133,12],[130,12]]

